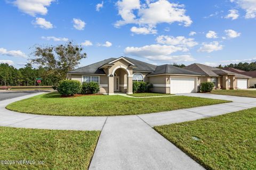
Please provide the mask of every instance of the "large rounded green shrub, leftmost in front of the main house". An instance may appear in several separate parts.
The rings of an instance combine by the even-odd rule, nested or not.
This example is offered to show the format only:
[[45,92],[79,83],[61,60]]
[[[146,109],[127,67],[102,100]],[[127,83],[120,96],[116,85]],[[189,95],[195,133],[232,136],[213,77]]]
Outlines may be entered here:
[[61,80],[57,88],[62,96],[73,96],[81,92],[81,83],[77,80]]

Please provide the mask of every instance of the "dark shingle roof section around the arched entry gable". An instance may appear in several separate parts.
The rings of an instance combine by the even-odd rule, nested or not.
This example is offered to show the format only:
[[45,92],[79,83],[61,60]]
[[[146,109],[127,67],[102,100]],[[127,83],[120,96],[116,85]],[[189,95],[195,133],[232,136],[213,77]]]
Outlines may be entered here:
[[[133,58],[124,57],[126,60],[130,61],[137,67],[134,67],[134,71],[148,71],[148,72],[154,72],[156,69],[156,65],[141,62],[139,60],[134,60]],[[111,61],[116,60],[117,58],[108,58],[107,60],[103,60],[98,63],[93,63],[90,65],[86,65],[84,67],[80,67],[76,70],[70,71],[68,73],[87,73],[87,74],[106,74],[103,69],[99,69],[99,67],[108,64]]]

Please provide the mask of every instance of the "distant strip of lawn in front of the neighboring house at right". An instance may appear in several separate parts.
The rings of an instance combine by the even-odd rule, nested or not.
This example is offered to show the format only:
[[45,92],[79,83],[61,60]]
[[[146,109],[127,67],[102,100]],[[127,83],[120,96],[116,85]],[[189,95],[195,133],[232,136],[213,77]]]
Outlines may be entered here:
[[242,97],[256,97],[256,90],[213,90],[210,94],[228,95],[228,96],[242,96]]

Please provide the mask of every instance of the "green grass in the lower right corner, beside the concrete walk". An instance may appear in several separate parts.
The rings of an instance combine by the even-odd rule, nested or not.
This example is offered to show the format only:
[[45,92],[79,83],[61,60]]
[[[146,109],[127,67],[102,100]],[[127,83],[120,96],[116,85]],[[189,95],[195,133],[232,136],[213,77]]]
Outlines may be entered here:
[[252,108],[155,130],[207,169],[256,169],[255,117]]

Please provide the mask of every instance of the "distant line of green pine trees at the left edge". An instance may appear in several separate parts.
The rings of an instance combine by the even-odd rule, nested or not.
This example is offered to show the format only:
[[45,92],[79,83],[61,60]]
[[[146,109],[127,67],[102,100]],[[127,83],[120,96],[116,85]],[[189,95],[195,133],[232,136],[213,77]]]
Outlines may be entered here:
[[0,86],[37,86],[36,79],[41,78],[41,86],[52,86],[60,79],[43,67],[33,68],[31,64],[16,69],[9,64],[0,64]]

